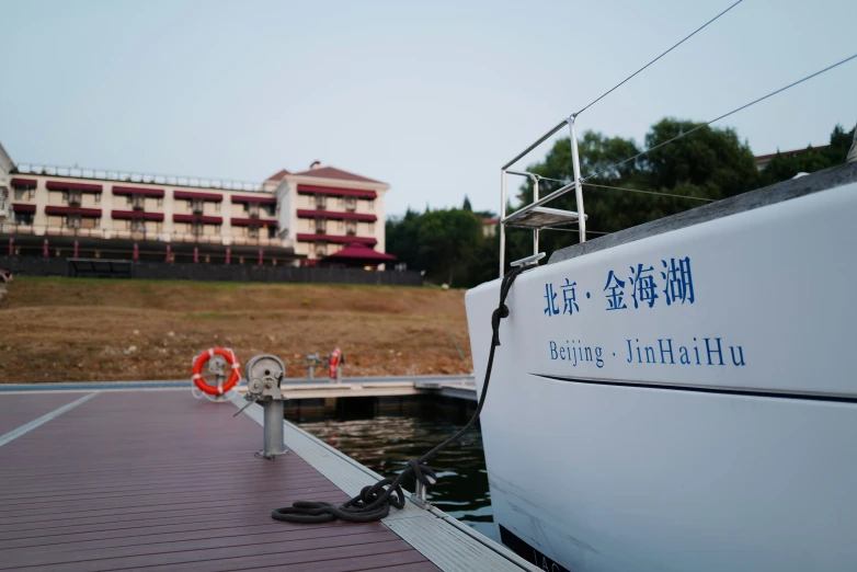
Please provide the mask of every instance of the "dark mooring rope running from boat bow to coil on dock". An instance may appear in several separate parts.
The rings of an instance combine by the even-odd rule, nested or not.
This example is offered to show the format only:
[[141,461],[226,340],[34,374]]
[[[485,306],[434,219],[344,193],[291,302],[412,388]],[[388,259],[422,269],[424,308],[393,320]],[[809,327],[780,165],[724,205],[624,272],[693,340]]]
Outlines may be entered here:
[[405,499],[402,491],[402,481],[408,477],[413,477],[425,485],[434,484],[435,471],[426,465],[426,461],[434,457],[439,450],[461,438],[472,428],[479,420],[479,413],[485,403],[488,396],[488,382],[491,379],[491,368],[494,365],[494,350],[500,345],[500,321],[509,317],[509,307],[506,306],[506,296],[515,278],[525,270],[532,268],[535,263],[518,266],[511,270],[500,285],[500,304],[491,314],[491,350],[488,354],[488,365],[485,366],[485,380],[482,384],[482,394],[479,396],[479,404],[470,421],[454,435],[424,454],[419,459],[411,459],[407,467],[395,479],[381,479],[375,484],[364,487],[361,493],[341,505],[325,503],[321,501],[297,501],[292,506],[276,508],[271,516],[277,520],[289,523],[327,523],[335,520],[346,520],[350,523],[369,523],[380,520],[390,514],[390,506],[403,508]]

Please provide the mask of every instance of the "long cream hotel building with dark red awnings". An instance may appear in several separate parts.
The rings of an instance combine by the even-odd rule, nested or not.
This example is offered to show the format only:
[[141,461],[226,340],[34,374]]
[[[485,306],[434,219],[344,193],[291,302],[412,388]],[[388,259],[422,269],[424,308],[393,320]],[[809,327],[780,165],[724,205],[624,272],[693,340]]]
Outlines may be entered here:
[[388,188],[319,163],[255,184],[14,164],[0,147],[0,240],[13,255],[312,265],[355,242],[384,252]]

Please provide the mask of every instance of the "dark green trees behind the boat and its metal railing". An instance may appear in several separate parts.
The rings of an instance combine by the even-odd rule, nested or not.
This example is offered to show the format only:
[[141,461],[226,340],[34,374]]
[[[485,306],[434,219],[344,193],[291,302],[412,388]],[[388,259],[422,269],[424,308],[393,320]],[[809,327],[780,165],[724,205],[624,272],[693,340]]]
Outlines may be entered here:
[[[688,133],[699,124],[665,118],[651,127],[645,135],[644,149]],[[750,145],[739,139],[731,128],[700,127],[681,139],[654,149],[640,158],[619,167],[619,163],[640,153],[633,139],[605,137],[599,133],[586,131],[581,137],[580,162],[583,176],[598,173],[589,179],[597,183],[626,188],[658,191],[701,198],[727,198],[754,188],[791,179],[800,172],[811,173],[845,162],[852,145],[854,130],[845,131],[837,125],[831,134],[830,146],[797,155],[777,155],[762,170]],[[527,168],[529,172],[544,178],[571,181],[571,146],[569,139],[558,139],[540,163]],[[545,196],[559,188],[562,183],[541,181],[539,194]],[[701,202],[584,187],[585,211],[589,215],[587,230],[615,232],[629,227],[655,220],[688,208]],[[527,181],[509,211],[533,201],[533,184]],[[569,193],[550,203],[551,207],[575,210],[574,193]],[[499,238],[485,237],[482,220],[495,217],[495,213],[478,213],[470,207],[467,197],[461,208],[426,208],[425,213],[408,210],[400,218],[387,221],[387,252],[395,254],[409,270],[425,271],[426,278],[455,287],[470,287],[496,277],[499,264]],[[532,232],[511,229],[507,234],[507,261],[532,253]],[[575,232],[544,231],[540,250],[552,252],[578,242]]]

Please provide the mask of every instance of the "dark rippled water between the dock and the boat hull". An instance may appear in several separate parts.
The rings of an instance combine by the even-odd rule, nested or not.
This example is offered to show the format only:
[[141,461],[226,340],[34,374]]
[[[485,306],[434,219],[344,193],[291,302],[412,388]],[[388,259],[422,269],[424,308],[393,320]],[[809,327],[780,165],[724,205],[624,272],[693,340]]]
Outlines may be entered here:
[[[409,459],[421,456],[461,428],[468,415],[427,405],[407,413],[380,413],[362,419],[341,414],[311,419],[286,416],[374,471],[393,477],[402,471]],[[437,484],[428,488],[432,504],[499,540],[491,514],[479,426],[461,442],[438,453],[428,465],[437,472]],[[405,481],[404,488],[413,491],[413,480]]]

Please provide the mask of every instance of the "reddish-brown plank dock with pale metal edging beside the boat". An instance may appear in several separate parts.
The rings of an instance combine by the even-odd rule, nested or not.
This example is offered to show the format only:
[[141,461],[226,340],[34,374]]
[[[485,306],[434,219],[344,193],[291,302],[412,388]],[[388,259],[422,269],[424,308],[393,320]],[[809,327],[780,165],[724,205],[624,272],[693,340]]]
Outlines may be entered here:
[[273,520],[377,476],[287,422],[293,453],[258,459],[261,408],[236,411],[190,390],[0,393],[0,570],[537,570],[410,503],[382,523]]

